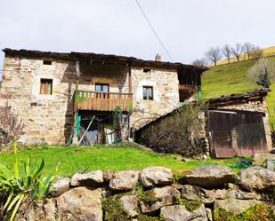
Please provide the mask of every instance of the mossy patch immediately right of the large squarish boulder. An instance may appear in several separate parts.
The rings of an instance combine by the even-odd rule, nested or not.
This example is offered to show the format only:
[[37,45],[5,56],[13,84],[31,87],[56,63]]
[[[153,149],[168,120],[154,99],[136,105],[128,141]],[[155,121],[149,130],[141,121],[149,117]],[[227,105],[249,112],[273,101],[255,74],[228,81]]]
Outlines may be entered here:
[[102,200],[102,208],[104,210],[104,221],[125,221],[127,220],[127,212],[123,208],[120,197],[109,197]]

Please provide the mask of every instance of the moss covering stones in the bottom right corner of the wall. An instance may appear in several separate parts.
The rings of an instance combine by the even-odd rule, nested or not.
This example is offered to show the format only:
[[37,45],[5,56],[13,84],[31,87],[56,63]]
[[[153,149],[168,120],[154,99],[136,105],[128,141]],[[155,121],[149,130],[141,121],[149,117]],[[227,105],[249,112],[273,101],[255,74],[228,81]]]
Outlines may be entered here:
[[234,215],[225,209],[214,211],[215,221],[275,221],[272,210],[263,204],[247,209],[239,215]]

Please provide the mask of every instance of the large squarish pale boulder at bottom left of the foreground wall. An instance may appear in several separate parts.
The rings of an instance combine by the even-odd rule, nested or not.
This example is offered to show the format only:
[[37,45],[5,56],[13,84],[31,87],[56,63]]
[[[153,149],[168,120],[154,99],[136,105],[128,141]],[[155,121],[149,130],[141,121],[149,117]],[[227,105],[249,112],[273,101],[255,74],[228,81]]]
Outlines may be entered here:
[[102,220],[101,189],[77,187],[61,194],[56,201],[61,220]]

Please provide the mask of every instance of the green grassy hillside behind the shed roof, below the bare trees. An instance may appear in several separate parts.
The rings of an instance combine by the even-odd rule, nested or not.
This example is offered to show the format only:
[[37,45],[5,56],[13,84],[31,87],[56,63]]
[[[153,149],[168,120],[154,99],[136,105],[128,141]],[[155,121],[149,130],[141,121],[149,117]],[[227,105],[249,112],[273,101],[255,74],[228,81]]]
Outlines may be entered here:
[[[271,59],[275,60],[275,57]],[[225,94],[255,91],[260,87],[247,79],[247,70],[255,64],[255,60],[247,60],[230,65],[211,67],[202,77],[203,98],[216,98]],[[267,98],[271,113],[271,123],[275,127],[275,83],[271,85]]]

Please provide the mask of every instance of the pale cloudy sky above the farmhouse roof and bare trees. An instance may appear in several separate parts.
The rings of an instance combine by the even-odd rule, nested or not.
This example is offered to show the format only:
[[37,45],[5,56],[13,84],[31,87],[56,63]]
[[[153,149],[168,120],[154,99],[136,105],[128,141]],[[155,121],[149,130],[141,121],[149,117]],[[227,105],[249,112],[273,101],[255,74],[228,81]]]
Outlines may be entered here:
[[[274,0],[139,0],[175,62],[211,46],[275,45]],[[135,0],[1,0],[0,48],[83,51],[172,61]],[[0,52],[3,69],[4,52]],[[0,73],[1,75],[1,73]]]

